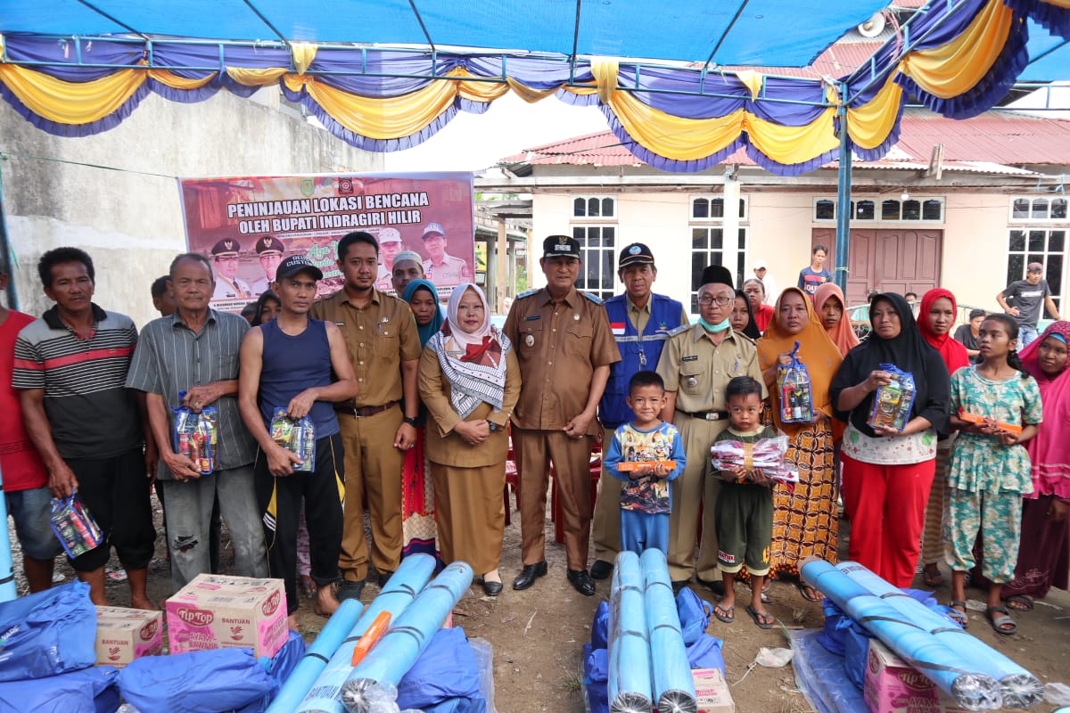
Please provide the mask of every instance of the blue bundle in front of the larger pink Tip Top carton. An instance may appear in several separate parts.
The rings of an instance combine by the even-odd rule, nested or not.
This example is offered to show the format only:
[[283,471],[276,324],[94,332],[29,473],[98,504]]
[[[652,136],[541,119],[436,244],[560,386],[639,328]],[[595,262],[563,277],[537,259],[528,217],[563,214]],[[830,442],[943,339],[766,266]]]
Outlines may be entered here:
[[268,662],[251,649],[148,656],[119,673],[119,689],[141,713],[254,713],[277,685]]

